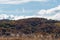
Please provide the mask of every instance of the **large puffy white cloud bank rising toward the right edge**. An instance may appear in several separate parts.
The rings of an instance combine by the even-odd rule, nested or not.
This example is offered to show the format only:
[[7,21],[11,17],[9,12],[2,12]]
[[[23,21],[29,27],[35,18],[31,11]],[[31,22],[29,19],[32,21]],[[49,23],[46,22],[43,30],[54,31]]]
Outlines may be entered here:
[[60,5],[47,10],[42,9],[37,15],[48,19],[60,20]]

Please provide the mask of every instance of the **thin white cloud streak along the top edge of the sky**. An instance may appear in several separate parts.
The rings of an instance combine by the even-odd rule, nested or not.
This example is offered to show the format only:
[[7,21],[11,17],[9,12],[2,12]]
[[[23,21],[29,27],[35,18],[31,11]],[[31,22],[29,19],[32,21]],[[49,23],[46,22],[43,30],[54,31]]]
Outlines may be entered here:
[[21,4],[21,3],[26,3],[30,1],[46,2],[48,0],[0,0],[0,4]]

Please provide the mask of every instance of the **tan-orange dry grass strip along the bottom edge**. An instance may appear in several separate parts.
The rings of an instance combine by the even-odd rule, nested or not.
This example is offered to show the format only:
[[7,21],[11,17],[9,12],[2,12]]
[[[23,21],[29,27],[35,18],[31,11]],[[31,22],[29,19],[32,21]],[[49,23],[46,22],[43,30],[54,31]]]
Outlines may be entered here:
[[19,37],[0,37],[0,40],[60,40],[54,35],[22,35]]

